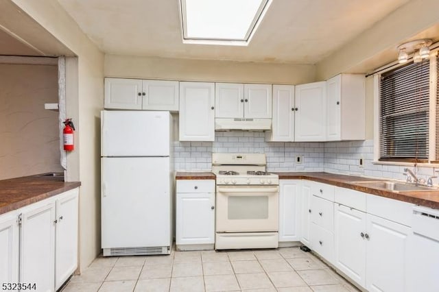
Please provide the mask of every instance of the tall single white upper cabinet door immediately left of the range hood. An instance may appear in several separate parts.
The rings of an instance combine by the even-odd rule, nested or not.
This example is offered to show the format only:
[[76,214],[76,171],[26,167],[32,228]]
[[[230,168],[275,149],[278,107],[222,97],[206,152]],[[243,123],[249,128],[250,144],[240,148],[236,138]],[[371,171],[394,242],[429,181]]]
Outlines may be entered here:
[[215,140],[215,84],[180,82],[180,141]]

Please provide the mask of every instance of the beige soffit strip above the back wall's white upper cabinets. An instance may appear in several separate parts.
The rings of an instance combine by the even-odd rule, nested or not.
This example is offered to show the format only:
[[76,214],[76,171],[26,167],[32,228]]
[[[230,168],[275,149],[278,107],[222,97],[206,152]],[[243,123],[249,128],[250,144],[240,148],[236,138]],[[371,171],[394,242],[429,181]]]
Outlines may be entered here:
[[302,84],[315,80],[313,65],[105,56],[106,77]]

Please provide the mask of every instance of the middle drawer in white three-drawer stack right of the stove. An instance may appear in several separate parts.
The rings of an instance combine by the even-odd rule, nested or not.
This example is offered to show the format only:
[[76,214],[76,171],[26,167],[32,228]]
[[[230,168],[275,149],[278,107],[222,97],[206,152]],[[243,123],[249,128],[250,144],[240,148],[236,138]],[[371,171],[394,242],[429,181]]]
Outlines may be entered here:
[[311,221],[318,226],[334,231],[334,203],[313,195],[311,202]]

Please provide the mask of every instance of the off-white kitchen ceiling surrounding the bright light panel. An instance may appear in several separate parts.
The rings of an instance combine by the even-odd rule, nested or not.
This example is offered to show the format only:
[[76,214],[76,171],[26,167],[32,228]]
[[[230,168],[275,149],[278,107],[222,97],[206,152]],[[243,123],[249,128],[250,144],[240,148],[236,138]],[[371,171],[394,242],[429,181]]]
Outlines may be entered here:
[[179,0],[58,1],[105,53],[316,64],[408,0],[273,0],[248,47],[183,44]]

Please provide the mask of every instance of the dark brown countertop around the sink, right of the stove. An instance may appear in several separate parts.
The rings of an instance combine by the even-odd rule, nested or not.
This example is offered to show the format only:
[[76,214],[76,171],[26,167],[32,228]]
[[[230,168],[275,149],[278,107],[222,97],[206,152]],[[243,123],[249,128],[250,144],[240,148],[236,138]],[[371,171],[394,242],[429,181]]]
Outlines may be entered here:
[[324,184],[332,184],[341,186],[342,188],[351,188],[355,191],[388,197],[390,199],[398,199],[399,201],[408,202],[416,205],[426,206],[439,209],[439,191],[399,191],[393,192],[384,188],[372,188],[368,186],[360,186],[353,182],[378,180],[374,178],[364,178],[355,175],[340,175],[325,172],[274,172],[279,175],[280,180],[313,180]]

